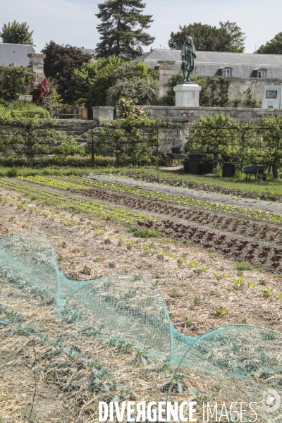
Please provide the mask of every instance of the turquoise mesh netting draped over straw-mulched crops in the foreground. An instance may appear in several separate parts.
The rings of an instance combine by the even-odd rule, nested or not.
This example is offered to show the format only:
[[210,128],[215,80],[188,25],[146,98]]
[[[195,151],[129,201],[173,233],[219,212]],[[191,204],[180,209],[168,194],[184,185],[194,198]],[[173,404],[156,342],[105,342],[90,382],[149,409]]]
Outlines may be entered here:
[[252,401],[256,421],[282,422],[269,391],[282,391],[281,333],[230,325],[184,336],[152,281],[69,281],[43,233],[1,240],[0,266],[0,413],[11,422],[96,422],[99,401],[195,398],[200,421],[207,401]]

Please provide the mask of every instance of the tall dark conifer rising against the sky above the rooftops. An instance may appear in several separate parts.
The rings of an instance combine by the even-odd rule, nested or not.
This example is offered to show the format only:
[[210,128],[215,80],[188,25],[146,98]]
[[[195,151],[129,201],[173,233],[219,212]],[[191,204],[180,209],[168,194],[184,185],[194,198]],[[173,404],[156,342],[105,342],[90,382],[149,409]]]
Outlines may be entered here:
[[152,15],[142,13],[145,6],[141,0],[106,0],[98,4],[96,16],[102,23],[97,25],[101,34],[97,58],[121,56],[135,59],[142,54],[142,45],[149,46],[154,42],[154,37],[144,31],[153,22]]

